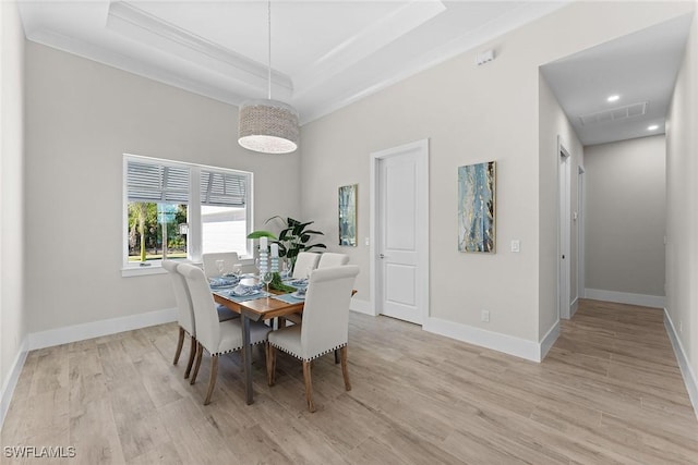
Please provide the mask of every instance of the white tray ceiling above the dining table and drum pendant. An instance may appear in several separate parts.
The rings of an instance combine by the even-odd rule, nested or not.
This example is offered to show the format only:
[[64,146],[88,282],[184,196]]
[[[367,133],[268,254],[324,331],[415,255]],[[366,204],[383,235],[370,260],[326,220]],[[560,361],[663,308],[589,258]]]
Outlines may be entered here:
[[[272,97],[308,122],[561,8],[275,0]],[[266,1],[20,0],[29,40],[225,102],[267,97]]]

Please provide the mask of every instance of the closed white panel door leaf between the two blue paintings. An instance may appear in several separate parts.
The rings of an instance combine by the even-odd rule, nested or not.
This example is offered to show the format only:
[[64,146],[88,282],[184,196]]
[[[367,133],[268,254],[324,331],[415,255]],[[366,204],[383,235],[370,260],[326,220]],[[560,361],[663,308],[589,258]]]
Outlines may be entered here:
[[[378,272],[383,315],[423,323],[419,307],[419,164],[417,154],[380,160]],[[422,244],[425,246],[425,244]]]

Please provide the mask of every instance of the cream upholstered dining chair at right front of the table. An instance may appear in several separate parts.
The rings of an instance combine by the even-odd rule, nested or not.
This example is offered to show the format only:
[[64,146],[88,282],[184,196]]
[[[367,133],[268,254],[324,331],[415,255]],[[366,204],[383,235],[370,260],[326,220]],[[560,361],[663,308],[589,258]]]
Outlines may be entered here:
[[314,270],[310,276],[303,320],[300,325],[280,328],[268,334],[266,372],[269,386],[276,377],[276,350],[286,352],[303,363],[305,401],[315,412],[311,381],[311,362],[339,350],[345,389],[351,390],[347,368],[349,341],[349,301],[359,267],[345,265]]

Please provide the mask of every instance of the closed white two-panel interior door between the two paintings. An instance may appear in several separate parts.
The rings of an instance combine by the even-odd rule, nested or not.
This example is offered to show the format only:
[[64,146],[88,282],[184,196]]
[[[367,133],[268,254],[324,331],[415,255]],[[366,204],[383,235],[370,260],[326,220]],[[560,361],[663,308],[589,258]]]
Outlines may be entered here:
[[380,314],[422,325],[428,315],[426,140],[380,152],[375,269]]

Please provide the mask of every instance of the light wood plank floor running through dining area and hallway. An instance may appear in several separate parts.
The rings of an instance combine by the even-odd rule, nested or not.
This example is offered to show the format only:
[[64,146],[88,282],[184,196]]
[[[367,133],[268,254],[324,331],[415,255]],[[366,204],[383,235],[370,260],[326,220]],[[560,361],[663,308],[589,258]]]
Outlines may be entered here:
[[660,310],[582,302],[542,364],[389,318],[350,321],[353,390],[332,355],[317,360],[315,414],[300,363],[279,354],[268,388],[261,351],[254,405],[232,355],[203,406],[209,359],[190,386],[188,352],[171,364],[174,325],[34,351],[0,445],[72,445],[63,463],[91,465],[698,463]]

